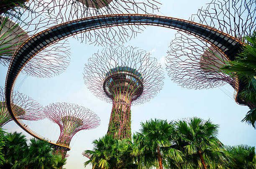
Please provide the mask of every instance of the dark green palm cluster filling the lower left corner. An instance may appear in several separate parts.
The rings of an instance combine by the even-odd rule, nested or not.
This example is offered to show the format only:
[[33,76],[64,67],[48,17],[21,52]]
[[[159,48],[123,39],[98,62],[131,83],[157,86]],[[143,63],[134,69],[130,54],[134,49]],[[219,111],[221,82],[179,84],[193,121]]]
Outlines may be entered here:
[[65,159],[53,155],[50,144],[44,140],[31,139],[27,145],[26,137],[21,133],[3,135],[5,161],[0,169],[61,169]]

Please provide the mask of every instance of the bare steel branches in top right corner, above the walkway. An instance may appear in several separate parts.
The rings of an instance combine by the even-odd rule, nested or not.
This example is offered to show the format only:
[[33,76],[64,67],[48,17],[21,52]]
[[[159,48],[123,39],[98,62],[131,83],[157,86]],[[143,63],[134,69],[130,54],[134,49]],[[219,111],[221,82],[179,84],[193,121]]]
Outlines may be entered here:
[[191,20],[244,41],[256,30],[255,0],[212,0],[192,15]]

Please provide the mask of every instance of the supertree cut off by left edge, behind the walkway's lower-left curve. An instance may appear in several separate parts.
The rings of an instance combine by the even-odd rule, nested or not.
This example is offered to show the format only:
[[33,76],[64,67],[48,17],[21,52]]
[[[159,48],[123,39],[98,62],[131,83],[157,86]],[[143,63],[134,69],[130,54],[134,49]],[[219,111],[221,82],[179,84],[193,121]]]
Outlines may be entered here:
[[[17,91],[13,92],[12,109],[14,109],[15,116],[18,119],[34,121],[45,118],[44,109],[38,102]],[[2,127],[13,120],[5,104],[3,87],[0,87],[0,110],[0,127]]]

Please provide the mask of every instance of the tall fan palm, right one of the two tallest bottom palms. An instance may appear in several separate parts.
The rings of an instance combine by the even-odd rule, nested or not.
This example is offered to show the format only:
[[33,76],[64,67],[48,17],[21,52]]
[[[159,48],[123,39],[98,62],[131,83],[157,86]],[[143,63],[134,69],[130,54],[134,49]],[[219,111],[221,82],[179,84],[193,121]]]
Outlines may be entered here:
[[213,163],[225,160],[223,144],[217,138],[218,125],[212,124],[210,120],[204,122],[197,117],[191,118],[188,122],[180,120],[176,124],[178,132],[186,142],[184,152],[190,156],[191,163],[197,163],[199,167],[201,163],[202,168],[207,169],[205,160]]

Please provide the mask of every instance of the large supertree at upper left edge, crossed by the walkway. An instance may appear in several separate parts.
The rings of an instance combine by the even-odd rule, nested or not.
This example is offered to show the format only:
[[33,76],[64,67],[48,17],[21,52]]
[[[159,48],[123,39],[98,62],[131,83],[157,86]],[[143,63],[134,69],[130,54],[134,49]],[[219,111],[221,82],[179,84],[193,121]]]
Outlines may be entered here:
[[[0,64],[6,67],[18,47],[35,33],[55,25],[53,18],[30,9],[18,8],[0,14]],[[69,45],[60,41],[38,53],[24,67],[23,73],[35,77],[52,77],[63,72],[69,64]]]

